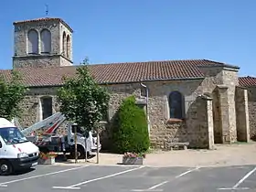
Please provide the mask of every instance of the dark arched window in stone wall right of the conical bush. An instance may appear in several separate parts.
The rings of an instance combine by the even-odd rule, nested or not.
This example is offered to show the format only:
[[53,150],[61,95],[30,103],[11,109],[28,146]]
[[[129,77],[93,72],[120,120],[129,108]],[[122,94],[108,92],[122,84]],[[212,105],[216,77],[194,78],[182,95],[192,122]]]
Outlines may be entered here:
[[184,118],[184,97],[179,91],[173,91],[169,95],[170,118]]

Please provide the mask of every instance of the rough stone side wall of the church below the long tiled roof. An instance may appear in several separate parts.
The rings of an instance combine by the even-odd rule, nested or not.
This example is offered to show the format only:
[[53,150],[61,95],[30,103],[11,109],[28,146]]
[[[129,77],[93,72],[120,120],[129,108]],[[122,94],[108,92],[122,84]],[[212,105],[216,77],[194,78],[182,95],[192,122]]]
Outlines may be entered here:
[[[236,71],[221,70],[220,68],[208,68],[202,71],[206,74],[204,80],[173,80],[173,81],[147,81],[144,84],[149,90],[148,117],[150,123],[150,139],[153,146],[165,147],[168,141],[189,142],[193,147],[210,147],[214,140],[220,138],[223,141],[234,141],[236,139],[236,113],[234,113]],[[232,81],[232,82],[231,82]],[[225,94],[219,95],[222,101],[215,100],[217,85],[226,84]],[[115,112],[118,110],[123,99],[134,94],[140,98],[144,88],[139,83],[114,84],[106,86],[111,93],[109,103],[107,129],[101,132],[102,147],[108,147],[111,142],[111,125]],[[168,95],[172,91],[180,91],[184,95],[186,118],[181,122],[173,122],[169,116]],[[213,102],[201,101],[197,98],[204,93],[213,98]],[[24,116],[23,124],[29,125],[37,121],[37,98],[43,95],[55,95],[56,89],[33,88],[24,101],[27,115]],[[218,92],[219,94],[219,92]],[[54,96],[54,98],[56,98]],[[214,99],[215,98],[215,99]],[[225,104],[226,103],[226,104]],[[229,103],[229,104],[228,104]],[[32,107],[33,106],[33,107]],[[54,108],[58,112],[58,103]],[[208,110],[206,110],[208,109]],[[215,109],[221,109],[221,112]],[[31,112],[31,113],[30,113]],[[223,112],[227,112],[223,114]],[[225,118],[224,118],[225,117]],[[225,121],[223,121],[225,119]],[[212,121],[212,122],[210,122]],[[214,127],[214,133],[209,129]],[[223,125],[225,124],[225,126]],[[235,125],[234,125],[235,124]],[[221,126],[220,126],[221,125]],[[226,126],[227,125],[227,126]],[[229,131],[229,126],[231,131]],[[209,129],[207,129],[207,126]],[[221,129],[219,129],[221,127]],[[222,128],[226,127],[225,135]],[[64,132],[61,130],[61,132]],[[220,136],[217,136],[217,135]],[[212,137],[215,137],[212,139]],[[225,139],[223,139],[225,138]]]

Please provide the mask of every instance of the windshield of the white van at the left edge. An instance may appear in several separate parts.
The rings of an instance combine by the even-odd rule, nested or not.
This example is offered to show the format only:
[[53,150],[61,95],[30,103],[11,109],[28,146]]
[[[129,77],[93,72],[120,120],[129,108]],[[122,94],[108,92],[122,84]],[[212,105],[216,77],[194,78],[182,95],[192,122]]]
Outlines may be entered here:
[[16,127],[0,128],[0,135],[5,141],[5,144],[21,144],[28,142],[24,134]]

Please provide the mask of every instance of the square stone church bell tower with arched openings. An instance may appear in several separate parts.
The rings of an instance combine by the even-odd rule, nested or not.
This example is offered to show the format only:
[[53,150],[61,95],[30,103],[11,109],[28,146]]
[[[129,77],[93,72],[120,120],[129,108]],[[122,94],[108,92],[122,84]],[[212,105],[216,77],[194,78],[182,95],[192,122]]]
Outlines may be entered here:
[[60,18],[38,18],[14,22],[13,68],[70,66],[72,33]]

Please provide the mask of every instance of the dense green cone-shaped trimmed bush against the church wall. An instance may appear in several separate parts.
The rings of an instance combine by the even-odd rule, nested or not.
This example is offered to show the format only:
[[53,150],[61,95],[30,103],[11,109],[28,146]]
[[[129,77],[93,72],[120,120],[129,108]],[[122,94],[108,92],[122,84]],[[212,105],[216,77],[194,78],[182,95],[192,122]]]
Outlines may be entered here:
[[144,109],[135,104],[135,97],[126,98],[116,113],[112,133],[115,153],[143,153],[149,148],[149,136]]

